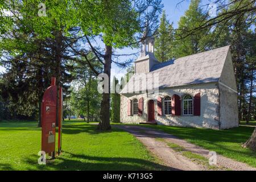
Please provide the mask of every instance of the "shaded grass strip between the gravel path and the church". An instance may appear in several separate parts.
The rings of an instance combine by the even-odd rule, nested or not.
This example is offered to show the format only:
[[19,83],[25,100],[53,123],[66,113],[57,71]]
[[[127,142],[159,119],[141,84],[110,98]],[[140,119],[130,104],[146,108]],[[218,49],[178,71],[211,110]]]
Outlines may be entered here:
[[143,126],[162,130],[210,151],[216,151],[217,154],[256,167],[256,152],[241,147],[241,144],[253,133],[254,127],[240,126],[230,130],[210,130],[160,125]]

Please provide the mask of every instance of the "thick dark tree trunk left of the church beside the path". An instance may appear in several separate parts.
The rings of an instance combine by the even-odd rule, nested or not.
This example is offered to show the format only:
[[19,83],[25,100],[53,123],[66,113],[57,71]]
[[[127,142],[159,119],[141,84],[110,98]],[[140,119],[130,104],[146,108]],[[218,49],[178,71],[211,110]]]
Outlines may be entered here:
[[98,123],[98,130],[111,130],[110,126],[110,71],[111,71],[111,62],[112,62],[112,47],[106,46],[105,49],[105,64],[104,64],[104,73],[108,75],[109,81],[109,88],[108,93],[103,93],[102,101],[101,101],[101,111],[100,111],[100,118],[101,121]]

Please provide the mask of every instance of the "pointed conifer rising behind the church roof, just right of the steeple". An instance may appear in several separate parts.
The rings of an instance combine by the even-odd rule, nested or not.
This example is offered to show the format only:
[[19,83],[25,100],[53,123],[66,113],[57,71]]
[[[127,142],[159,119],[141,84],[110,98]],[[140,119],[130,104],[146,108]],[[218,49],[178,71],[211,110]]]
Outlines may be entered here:
[[155,38],[155,56],[160,62],[167,61],[174,57],[172,49],[174,46],[174,28],[167,20],[166,12],[163,11],[158,28],[158,35]]

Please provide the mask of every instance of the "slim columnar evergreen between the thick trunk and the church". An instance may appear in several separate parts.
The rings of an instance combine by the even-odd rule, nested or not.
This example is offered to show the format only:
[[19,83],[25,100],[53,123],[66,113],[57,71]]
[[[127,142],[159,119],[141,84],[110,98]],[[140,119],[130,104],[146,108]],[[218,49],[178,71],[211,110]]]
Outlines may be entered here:
[[[115,77],[113,77],[112,85],[112,90],[115,90],[116,86],[118,85],[118,80]],[[115,90],[115,92],[111,94],[110,121],[113,123],[120,122],[120,94],[117,93],[117,90]]]

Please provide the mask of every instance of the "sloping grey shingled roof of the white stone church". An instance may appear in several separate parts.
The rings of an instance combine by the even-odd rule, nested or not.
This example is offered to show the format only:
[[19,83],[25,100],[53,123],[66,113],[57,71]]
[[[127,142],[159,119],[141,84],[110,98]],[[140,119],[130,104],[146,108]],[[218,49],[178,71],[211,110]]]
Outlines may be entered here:
[[[159,74],[159,89],[217,82],[221,77],[229,47],[212,49],[210,51],[196,53],[195,55],[155,64],[151,68],[150,73]],[[146,73],[147,84],[151,81],[154,82],[154,76],[152,77],[150,73]],[[141,76],[135,74],[131,77],[121,93],[142,91],[141,84],[134,84],[131,81],[133,79],[136,82],[136,80],[141,80]]]

